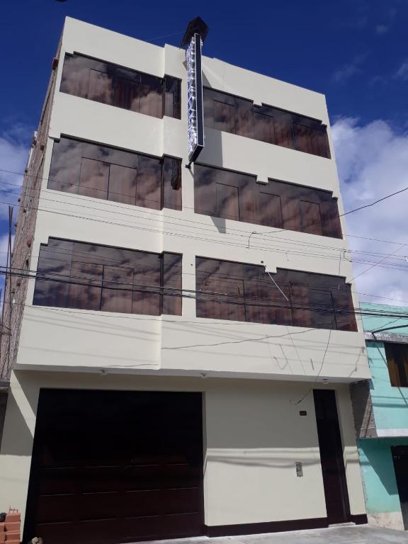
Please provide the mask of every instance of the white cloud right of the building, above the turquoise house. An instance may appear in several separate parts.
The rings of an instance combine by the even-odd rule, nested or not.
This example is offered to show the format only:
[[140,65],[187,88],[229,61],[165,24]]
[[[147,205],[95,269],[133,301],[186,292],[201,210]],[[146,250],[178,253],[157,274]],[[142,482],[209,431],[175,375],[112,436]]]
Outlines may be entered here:
[[[382,120],[359,125],[357,119],[340,118],[333,125],[333,138],[346,211],[408,186],[408,134],[397,132]],[[408,191],[346,216],[348,234],[393,242],[350,237],[351,249],[374,253],[353,254],[354,276],[370,266],[368,261],[376,263],[398,249],[397,244],[408,244],[407,209]],[[408,245],[359,276],[358,292],[404,300],[401,304],[408,306],[408,262],[404,256],[408,256]],[[392,269],[393,264],[404,269]],[[397,300],[366,295],[360,299],[398,304]]]

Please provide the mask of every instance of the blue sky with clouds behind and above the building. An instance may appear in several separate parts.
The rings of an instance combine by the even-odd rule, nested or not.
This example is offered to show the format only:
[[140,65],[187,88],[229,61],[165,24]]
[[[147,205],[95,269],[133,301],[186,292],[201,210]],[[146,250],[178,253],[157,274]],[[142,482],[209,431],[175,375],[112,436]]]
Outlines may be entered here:
[[[200,15],[210,27],[205,55],[326,94],[346,209],[408,186],[408,0],[3,0],[0,169],[24,167],[67,15],[157,45],[179,45],[186,23]],[[11,200],[4,181],[20,179],[0,172],[0,200]],[[349,216],[349,232],[402,246],[408,195],[391,200]],[[0,208],[0,237],[4,216]],[[351,245],[378,260],[398,247],[363,239]],[[400,268],[404,254],[402,246]],[[408,301],[407,271],[384,268],[389,263],[364,273],[358,289]],[[368,266],[357,263],[356,273]]]

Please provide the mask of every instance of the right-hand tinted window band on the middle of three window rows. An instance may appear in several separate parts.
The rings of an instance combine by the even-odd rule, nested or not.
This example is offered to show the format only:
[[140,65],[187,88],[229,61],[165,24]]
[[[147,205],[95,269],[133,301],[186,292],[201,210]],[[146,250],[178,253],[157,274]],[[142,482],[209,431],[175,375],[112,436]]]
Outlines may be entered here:
[[329,191],[212,166],[194,166],[196,213],[341,238],[337,200]]

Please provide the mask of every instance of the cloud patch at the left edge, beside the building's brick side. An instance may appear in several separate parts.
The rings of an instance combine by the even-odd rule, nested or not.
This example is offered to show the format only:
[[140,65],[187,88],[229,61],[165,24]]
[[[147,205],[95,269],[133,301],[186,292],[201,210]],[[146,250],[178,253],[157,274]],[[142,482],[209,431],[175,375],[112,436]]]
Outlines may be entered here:
[[[24,125],[14,125],[0,135],[0,219],[8,218],[8,205],[16,204],[26,162],[29,131]],[[16,211],[14,217],[16,217]]]

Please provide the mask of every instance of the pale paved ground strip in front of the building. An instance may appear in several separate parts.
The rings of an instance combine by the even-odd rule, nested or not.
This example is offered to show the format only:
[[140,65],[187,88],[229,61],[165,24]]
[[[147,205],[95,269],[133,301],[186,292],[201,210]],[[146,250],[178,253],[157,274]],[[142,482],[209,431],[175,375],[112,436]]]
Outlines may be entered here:
[[225,536],[222,538],[183,538],[161,540],[160,542],[166,544],[408,544],[408,531],[393,531],[392,529],[357,525],[290,533]]

